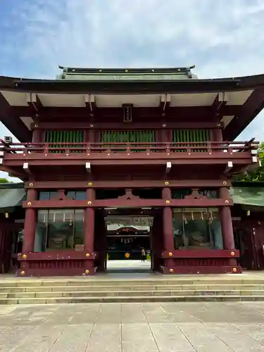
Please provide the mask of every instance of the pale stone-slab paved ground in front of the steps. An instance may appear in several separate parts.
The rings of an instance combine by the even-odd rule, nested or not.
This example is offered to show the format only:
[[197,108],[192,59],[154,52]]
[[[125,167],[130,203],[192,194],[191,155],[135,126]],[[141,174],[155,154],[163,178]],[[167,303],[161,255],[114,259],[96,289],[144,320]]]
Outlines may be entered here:
[[264,351],[264,303],[0,306],[0,351]]

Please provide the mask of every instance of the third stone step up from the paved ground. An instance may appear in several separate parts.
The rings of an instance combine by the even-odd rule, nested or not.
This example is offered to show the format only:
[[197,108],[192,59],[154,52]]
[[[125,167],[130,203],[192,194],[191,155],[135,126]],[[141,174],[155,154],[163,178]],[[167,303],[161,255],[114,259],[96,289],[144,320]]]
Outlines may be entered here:
[[32,286],[32,287],[1,287],[1,293],[22,292],[55,292],[55,291],[164,291],[164,290],[262,290],[264,284],[192,284],[192,285],[118,285],[107,286],[82,285],[82,286]]

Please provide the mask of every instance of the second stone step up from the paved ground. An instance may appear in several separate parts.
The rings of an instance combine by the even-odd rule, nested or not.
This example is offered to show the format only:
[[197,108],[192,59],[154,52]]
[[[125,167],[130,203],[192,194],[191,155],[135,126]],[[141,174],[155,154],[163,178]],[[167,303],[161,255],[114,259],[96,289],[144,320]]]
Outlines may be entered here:
[[0,298],[58,298],[58,297],[110,297],[110,296],[264,296],[264,290],[179,290],[179,291],[55,291],[55,292],[22,292],[0,293]]

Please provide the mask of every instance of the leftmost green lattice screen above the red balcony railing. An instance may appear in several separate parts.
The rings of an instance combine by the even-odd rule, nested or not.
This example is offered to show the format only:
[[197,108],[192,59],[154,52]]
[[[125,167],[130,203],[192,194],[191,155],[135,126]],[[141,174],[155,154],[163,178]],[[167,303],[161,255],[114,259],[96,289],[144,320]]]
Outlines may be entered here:
[[[48,130],[45,133],[45,142],[52,143],[52,147],[59,147],[59,144],[56,143],[73,143],[69,145],[70,147],[78,146],[75,143],[82,143],[84,142],[84,132],[83,131],[51,131]],[[65,149],[64,149],[65,150]],[[56,151],[61,153],[61,151]],[[55,152],[55,151],[54,151]],[[75,151],[76,152],[76,151]]]

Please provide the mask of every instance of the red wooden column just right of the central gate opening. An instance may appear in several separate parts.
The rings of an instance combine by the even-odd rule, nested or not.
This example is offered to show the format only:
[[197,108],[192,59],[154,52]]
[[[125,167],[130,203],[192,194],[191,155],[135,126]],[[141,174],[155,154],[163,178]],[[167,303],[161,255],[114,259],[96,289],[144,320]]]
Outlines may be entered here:
[[[171,191],[165,187],[162,190],[162,198],[165,201],[170,201]],[[172,208],[164,206],[163,208],[163,244],[165,251],[174,251],[174,238],[173,238],[173,222],[172,222]],[[171,268],[174,265],[173,259],[165,259],[166,268]]]

